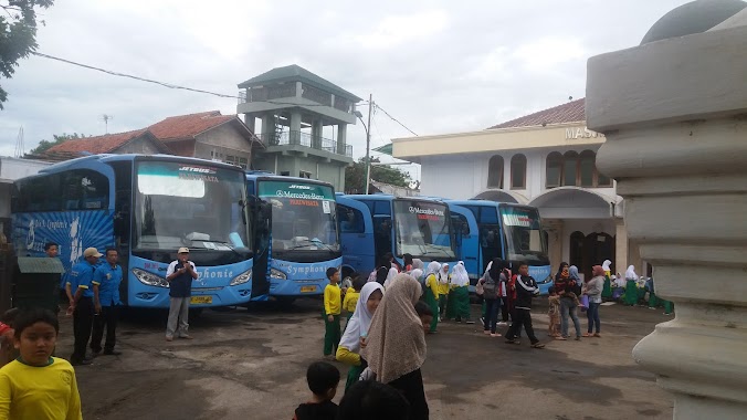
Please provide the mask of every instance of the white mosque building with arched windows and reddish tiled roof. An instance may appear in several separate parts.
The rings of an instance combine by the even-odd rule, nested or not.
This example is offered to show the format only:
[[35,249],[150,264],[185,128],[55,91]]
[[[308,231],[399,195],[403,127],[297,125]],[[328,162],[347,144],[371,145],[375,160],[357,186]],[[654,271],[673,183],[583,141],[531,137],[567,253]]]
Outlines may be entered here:
[[611,260],[643,270],[628,241],[624,202],[596,167],[604,136],[586,127],[585,99],[470,133],[397,138],[392,156],[421,165],[421,195],[538,208],[550,262],[591,266]]

